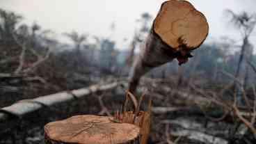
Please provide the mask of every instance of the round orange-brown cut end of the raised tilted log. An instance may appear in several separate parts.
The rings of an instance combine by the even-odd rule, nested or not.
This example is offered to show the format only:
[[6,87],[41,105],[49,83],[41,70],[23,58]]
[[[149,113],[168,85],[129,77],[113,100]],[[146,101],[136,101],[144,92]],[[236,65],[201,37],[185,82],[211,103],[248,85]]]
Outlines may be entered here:
[[192,50],[207,38],[209,25],[205,15],[188,1],[169,0],[154,20],[154,32],[174,49]]

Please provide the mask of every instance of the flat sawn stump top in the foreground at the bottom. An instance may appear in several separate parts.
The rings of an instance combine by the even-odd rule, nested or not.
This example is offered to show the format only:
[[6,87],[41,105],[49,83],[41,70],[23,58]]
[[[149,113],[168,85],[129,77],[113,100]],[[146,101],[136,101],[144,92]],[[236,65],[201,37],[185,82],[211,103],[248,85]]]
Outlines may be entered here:
[[45,143],[122,144],[138,143],[136,125],[113,122],[111,117],[77,115],[45,125]]

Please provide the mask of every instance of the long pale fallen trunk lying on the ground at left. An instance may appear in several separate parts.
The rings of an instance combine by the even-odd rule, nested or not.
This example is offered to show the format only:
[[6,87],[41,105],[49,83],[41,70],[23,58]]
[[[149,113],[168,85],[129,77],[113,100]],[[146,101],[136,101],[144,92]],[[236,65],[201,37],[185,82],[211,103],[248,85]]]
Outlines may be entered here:
[[78,90],[65,91],[52,95],[46,95],[35,99],[25,99],[11,106],[0,109],[0,134],[8,129],[18,125],[19,121],[26,118],[29,113],[38,111],[45,106],[51,108],[56,104],[70,102],[75,99],[86,97],[100,91],[113,90],[122,82],[114,82],[102,85],[94,85],[88,88]]

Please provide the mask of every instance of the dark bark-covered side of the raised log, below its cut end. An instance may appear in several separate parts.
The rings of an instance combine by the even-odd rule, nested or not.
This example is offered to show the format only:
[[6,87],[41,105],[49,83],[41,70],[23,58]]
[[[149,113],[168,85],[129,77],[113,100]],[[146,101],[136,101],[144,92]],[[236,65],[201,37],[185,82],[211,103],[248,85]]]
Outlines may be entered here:
[[173,61],[176,55],[175,51],[163,43],[154,30],[151,30],[129,74],[128,90],[135,93],[138,82],[145,73],[154,67]]

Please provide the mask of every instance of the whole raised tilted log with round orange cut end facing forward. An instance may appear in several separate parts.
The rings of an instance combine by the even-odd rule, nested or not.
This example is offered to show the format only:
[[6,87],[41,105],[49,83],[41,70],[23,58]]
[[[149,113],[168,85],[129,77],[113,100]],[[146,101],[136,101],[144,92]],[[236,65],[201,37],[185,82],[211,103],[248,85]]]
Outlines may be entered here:
[[175,58],[179,65],[186,63],[192,57],[191,51],[207,38],[208,31],[206,17],[188,1],[164,2],[131,70],[129,91],[134,93],[139,79],[154,67]]

